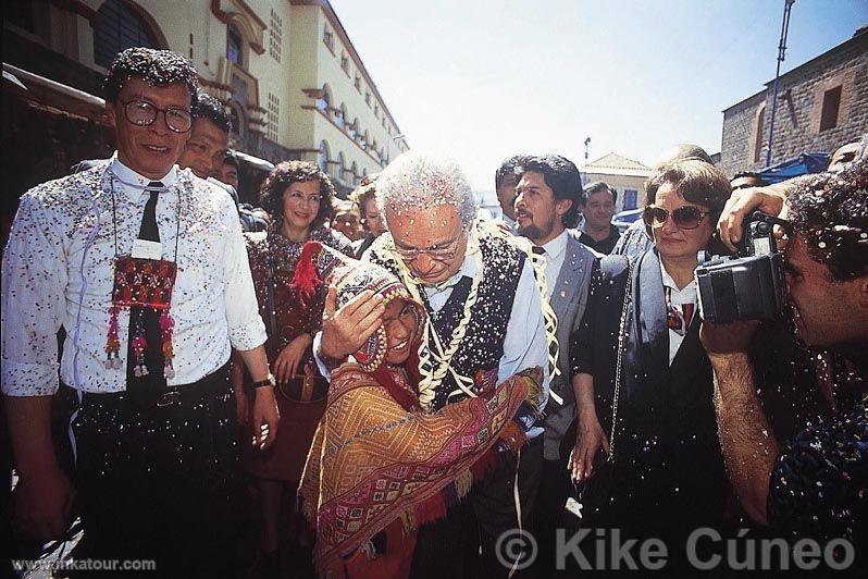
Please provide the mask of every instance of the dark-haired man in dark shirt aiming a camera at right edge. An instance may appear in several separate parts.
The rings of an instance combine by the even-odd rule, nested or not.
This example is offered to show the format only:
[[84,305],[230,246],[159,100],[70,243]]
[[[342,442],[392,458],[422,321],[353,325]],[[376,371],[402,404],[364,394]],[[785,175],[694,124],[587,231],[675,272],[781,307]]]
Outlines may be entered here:
[[[781,198],[760,189],[734,196],[720,218],[722,239],[737,241],[741,219],[753,209],[777,213]],[[864,545],[868,384],[859,374],[868,362],[868,160],[799,181],[782,217],[792,226],[783,255],[796,334],[808,346],[845,352],[850,367],[832,369],[831,380],[818,385],[835,415],[779,444],[769,435],[747,355],[756,322],[704,323],[721,447],[751,518],[793,537]]]

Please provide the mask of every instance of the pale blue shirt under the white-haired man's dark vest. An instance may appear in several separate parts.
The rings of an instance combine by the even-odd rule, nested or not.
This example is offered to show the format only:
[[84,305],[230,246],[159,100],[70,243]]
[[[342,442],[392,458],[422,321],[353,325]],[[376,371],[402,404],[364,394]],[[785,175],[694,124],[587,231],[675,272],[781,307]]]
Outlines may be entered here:
[[[566,239],[565,239],[566,247]],[[561,259],[561,262],[563,260]],[[461,269],[458,272],[435,286],[422,285],[425,297],[434,311],[439,311],[452,290],[463,276],[472,278],[478,272],[476,260],[470,256],[464,256]],[[543,322],[542,307],[531,307],[532,304],[541,304],[540,288],[533,274],[533,267],[525,260],[519,278],[519,285],[516,288],[516,298],[512,301],[512,310],[507,322],[507,333],[504,340],[504,355],[500,357],[497,368],[498,382],[518,373],[521,370],[540,366],[543,368],[543,394],[540,408],[545,408],[548,402],[548,346],[546,344],[546,330]],[[330,377],[328,369],[322,362],[317,353],[320,352],[322,332],[318,332],[313,337],[313,352],[320,372],[326,378]],[[543,433],[541,427],[534,427],[528,432],[528,438],[532,439]]]

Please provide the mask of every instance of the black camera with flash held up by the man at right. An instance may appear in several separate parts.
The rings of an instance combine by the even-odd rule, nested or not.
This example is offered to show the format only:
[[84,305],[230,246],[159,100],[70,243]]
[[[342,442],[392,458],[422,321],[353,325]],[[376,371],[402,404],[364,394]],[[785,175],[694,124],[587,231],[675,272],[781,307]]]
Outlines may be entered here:
[[759,211],[745,218],[744,236],[734,256],[699,259],[694,272],[699,315],[711,323],[737,320],[771,321],[782,318],[786,304],[783,256],[778,250],[774,225],[786,221]]

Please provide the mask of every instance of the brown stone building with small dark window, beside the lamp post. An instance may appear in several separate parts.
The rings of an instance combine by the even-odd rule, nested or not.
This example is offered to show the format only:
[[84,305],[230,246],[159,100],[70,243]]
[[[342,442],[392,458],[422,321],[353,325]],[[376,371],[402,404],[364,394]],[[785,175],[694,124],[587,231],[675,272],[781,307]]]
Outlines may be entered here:
[[[773,81],[723,111],[718,167],[732,176],[766,167]],[[831,152],[868,133],[868,28],[782,74],[771,164],[803,152]]]

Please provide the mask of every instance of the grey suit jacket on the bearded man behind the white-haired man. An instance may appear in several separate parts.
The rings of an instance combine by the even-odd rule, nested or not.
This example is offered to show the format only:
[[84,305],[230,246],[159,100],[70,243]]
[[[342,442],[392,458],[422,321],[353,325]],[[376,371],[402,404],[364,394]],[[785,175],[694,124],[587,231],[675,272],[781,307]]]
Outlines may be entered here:
[[[570,335],[582,321],[594,260],[598,257],[599,254],[579,241],[579,233],[575,230],[567,230],[567,252],[549,299],[551,309],[558,318],[556,336],[560,370],[560,374],[551,379],[550,389],[563,398],[563,404],[559,405],[553,397],[548,398],[546,417],[543,421],[545,427],[543,456],[546,460],[556,460],[561,456],[560,443],[575,419],[575,395],[570,382]],[[570,448],[572,448],[571,443]]]

